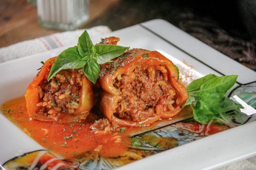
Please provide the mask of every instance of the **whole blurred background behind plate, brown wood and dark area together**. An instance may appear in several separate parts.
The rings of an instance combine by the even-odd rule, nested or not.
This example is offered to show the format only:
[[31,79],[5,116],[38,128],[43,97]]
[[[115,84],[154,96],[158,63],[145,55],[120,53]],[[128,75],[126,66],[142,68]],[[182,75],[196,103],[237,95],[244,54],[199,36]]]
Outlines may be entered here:
[[[256,70],[255,0],[90,0],[89,18],[78,28],[106,25],[112,31],[161,18]],[[0,47],[62,32],[42,27],[27,0],[0,1]]]

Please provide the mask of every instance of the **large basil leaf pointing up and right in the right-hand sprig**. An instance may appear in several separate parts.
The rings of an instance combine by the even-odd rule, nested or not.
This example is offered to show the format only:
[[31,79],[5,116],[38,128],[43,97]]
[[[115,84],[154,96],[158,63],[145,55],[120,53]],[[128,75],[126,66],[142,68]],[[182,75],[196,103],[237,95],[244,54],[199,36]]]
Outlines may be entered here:
[[212,91],[225,95],[235,84],[237,77],[237,75],[230,75],[210,79],[201,85],[200,91]]

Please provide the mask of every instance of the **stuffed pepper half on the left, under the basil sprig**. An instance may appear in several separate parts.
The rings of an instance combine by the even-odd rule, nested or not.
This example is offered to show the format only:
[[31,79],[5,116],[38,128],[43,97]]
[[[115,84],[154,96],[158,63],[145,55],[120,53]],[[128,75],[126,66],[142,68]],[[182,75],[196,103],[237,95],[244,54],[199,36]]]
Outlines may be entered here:
[[92,83],[82,69],[65,69],[47,81],[56,57],[48,59],[29,84],[25,99],[31,118],[72,122],[86,118],[93,107]]

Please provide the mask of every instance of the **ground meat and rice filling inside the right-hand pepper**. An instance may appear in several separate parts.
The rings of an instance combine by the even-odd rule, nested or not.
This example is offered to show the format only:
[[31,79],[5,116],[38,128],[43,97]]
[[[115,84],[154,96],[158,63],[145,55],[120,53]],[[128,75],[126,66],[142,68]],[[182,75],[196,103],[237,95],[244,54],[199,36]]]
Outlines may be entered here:
[[175,90],[163,66],[143,68],[139,65],[131,75],[118,76],[114,86],[122,97],[114,113],[117,117],[143,121],[174,109]]

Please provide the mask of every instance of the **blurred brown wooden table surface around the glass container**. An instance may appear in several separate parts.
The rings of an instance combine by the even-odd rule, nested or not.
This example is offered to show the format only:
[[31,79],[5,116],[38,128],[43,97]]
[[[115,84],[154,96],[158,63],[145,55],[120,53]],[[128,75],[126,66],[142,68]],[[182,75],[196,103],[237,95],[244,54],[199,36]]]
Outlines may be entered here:
[[[88,22],[100,16],[117,1],[91,0]],[[0,47],[61,32],[40,26],[37,8],[30,5],[26,0],[0,1],[0,30]]]

